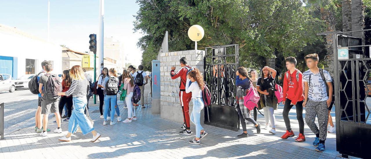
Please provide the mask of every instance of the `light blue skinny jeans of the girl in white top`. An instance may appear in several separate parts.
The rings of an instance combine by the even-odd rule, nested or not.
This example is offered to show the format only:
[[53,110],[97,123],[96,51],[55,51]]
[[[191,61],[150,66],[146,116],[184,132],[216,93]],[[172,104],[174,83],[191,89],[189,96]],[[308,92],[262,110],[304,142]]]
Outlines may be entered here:
[[191,113],[191,121],[196,125],[196,137],[200,138],[201,130],[204,129],[200,124],[201,110],[204,108],[203,98],[192,98],[193,108]]

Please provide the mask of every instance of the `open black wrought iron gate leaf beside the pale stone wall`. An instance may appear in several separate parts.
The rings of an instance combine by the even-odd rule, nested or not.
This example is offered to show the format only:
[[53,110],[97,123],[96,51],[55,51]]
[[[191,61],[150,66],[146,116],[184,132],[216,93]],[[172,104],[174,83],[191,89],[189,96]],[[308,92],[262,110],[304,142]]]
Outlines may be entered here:
[[210,87],[211,106],[205,110],[205,124],[237,131],[240,127],[234,110],[238,45],[205,49],[204,78]]

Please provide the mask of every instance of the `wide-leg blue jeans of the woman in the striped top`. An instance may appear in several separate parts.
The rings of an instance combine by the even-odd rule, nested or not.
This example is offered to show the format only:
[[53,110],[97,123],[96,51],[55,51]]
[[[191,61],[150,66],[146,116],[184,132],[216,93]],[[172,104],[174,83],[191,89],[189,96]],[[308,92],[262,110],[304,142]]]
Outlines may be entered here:
[[76,132],[79,126],[84,135],[92,132],[94,127],[88,117],[84,114],[86,103],[88,103],[86,97],[73,97],[72,101],[75,107],[68,121],[68,132]]

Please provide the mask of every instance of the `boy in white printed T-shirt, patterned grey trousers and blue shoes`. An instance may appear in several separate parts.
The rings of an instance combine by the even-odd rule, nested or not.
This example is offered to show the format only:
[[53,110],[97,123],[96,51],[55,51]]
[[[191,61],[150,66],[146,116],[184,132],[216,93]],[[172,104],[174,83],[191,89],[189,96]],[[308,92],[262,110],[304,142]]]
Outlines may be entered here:
[[[326,149],[328,107],[330,107],[332,101],[332,79],[328,71],[318,68],[319,58],[316,53],[306,55],[304,59],[309,68],[303,74],[305,121],[312,132],[316,134],[313,146],[317,146],[317,151],[324,151]],[[325,81],[322,80],[321,74],[324,75]],[[326,84],[329,95],[327,94]],[[315,124],[316,116],[318,117],[319,130]]]

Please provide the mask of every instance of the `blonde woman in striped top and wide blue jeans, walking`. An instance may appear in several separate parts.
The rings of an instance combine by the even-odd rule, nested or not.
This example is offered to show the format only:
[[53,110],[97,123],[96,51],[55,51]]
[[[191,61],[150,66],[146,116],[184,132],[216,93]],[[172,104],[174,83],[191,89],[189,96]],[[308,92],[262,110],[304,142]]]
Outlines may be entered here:
[[59,92],[58,95],[72,95],[74,110],[68,122],[68,133],[66,136],[60,137],[59,141],[71,141],[71,134],[75,133],[77,128],[80,127],[84,135],[91,132],[93,138],[90,141],[95,142],[101,137],[101,134],[94,130],[91,121],[86,114],[84,114],[86,104],[88,103],[86,101],[86,94],[89,91],[88,89],[90,89],[89,82],[86,80],[82,68],[79,65],[72,66],[70,69],[70,77],[72,78],[70,88],[66,92]]

